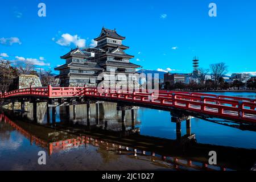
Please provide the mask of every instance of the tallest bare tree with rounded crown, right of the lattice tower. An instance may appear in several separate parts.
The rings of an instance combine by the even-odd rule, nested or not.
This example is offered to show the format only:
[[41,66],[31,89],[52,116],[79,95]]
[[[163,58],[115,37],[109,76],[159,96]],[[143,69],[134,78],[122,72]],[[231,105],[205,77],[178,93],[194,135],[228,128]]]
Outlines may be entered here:
[[225,63],[210,64],[210,70],[214,76],[216,86],[222,76],[228,72],[228,66]]

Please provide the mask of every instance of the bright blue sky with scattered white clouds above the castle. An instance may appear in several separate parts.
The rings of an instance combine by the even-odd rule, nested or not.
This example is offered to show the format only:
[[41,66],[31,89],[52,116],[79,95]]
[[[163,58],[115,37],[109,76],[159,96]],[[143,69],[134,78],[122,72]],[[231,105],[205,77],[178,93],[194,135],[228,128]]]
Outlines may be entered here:
[[[46,4],[46,17],[38,4]],[[209,3],[217,17],[208,15]],[[1,1],[0,57],[38,68],[64,64],[71,47],[89,46],[102,26],[117,29],[131,61],[144,69],[192,72],[225,62],[229,73],[256,73],[256,1]],[[56,72],[57,73],[57,72]]]

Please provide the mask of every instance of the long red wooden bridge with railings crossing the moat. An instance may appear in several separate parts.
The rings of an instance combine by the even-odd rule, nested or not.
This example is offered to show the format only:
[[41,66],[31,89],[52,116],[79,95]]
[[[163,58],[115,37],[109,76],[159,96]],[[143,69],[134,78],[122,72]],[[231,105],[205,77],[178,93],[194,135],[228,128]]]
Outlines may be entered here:
[[[104,92],[101,92],[104,91]],[[205,93],[159,91],[154,93],[97,90],[97,88],[72,87],[27,88],[1,93],[4,100],[38,99],[56,100],[85,98],[110,101],[125,105],[151,107],[160,110],[180,110],[195,117],[217,117],[238,122],[256,123],[256,100],[243,97],[217,96]]]

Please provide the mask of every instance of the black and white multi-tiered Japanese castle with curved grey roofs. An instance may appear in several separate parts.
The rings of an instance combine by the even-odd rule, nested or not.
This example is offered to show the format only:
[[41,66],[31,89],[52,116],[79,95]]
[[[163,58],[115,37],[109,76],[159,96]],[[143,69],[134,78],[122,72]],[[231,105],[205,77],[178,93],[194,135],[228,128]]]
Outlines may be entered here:
[[[123,73],[127,76],[129,73],[135,73],[135,69],[140,65],[130,63],[134,56],[125,53],[129,47],[124,46],[122,41],[125,37],[117,34],[115,30],[102,28],[100,36],[94,39],[97,46],[94,48],[76,48],[69,51],[61,59],[66,63],[55,70],[60,71],[60,86],[97,86],[105,80],[105,75],[110,75],[110,71]],[[104,79],[97,80],[97,76],[104,75]],[[118,80],[115,84],[118,84]],[[104,81],[102,86],[109,85]],[[139,86],[137,80],[133,80],[129,85]],[[111,85],[115,86],[115,85]]]

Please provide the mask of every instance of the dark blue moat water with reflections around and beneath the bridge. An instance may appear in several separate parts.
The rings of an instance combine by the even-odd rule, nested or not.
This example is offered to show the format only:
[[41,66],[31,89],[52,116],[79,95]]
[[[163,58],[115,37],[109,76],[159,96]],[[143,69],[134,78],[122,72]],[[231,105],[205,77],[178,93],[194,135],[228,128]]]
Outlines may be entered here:
[[[220,92],[228,96],[256,98],[256,93]],[[191,119],[191,128],[176,123],[170,112],[141,107],[127,111],[126,122],[116,104],[60,106],[56,122],[47,121],[46,104],[38,105],[34,121],[32,105],[26,113],[0,111],[0,170],[249,170],[256,162],[256,128],[212,118]],[[51,110],[50,110],[51,114]],[[38,152],[46,152],[46,165],[38,164]],[[209,151],[217,152],[217,165],[209,165]]]

